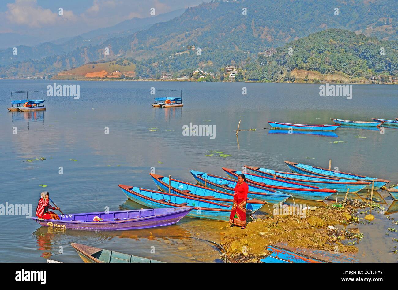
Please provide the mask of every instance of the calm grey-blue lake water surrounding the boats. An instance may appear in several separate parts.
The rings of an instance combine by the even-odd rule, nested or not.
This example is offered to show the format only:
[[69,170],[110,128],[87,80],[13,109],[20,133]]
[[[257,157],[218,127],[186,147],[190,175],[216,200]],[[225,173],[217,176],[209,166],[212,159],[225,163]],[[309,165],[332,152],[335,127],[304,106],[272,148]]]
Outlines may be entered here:
[[[398,117],[394,85],[353,85],[353,98],[347,100],[320,97],[319,85],[311,84],[56,83],[80,85],[80,99],[45,96],[46,111],[8,112],[11,91],[46,93],[53,81],[0,80],[0,203],[31,204],[33,215],[44,190],[64,213],[103,211],[104,207],[139,209],[117,185],[156,189],[149,176],[152,166],[157,174],[193,182],[189,169],[224,176],[223,166],[241,170],[247,164],[287,171],[284,160],[328,167],[332,159],[332,167],[340,171],[398,182],[398,129],[386,128],[380,134],[339,128],[338,137],[273,134],[263,129],[269,127],[267,120],[310,124],[331,124],[330,118],[394,120]],[[184,106],[152,108],[151,87],[182,89]],[[242,94],[243,87],[247,95]],[[239,120],[240,129],[256,131],[240,132],[237,142],[233,130]],[[215,139],[183,136],[182,126],[190,122],[215,125]],[[231,156],[205,156],[210,151]],[[26,161],[36,157],[46,160]],[[367,192],[361,195],[365,200]],[[391,205],[387,191],[375,193],[375,199],[389,210],[373,211],[375,220],[357,226],[364,234],[357,245],[358,257],[361,262],[396,262],[398,255],[392,250],[398,243],[392,238],[398,238],[397,233],[385,234],[394,227],[386,217],[397,220],[398,205]],[[220,228],[227,222],[183,218],[172,226],[123,232],[54,231],[23,216],[0,216],[0,224],[2,262],[81,262],[71,242],[166,262],[212,262],[220,261],[219,253],[197,238],[220,242]],[[151,246],[155,254],[150,253]]]

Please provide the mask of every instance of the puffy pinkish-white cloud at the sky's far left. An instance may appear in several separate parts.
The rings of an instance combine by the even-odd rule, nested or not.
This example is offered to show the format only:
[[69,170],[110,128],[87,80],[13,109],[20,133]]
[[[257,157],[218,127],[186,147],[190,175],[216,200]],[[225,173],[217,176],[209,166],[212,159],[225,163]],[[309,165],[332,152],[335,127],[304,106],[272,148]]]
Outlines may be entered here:
[[53,25],[57,21],[71,20],[76,16],[72,11],[63,11],[62,18],[57,12],[44,9],[37,5],[37,0],[16,0],[15,3],[7,4],[8,10],[5,12],[11,24],[28,25],[29,27],[43,27]]

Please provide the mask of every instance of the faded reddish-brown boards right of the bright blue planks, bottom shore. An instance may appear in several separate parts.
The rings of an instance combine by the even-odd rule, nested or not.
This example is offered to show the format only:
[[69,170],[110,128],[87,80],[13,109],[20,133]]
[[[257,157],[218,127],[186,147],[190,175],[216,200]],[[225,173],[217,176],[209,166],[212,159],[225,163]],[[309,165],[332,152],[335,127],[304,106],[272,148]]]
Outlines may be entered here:
[[279,247],[281,249],[286,249],[304,255],[306,257],[311,257],[320,261],[327,263],[358,263],[359,260],[356,258],[355,253],[334,253],[332,251],[324,251],[317,249],[308,248],[296,248],[287,246],[287,243],[277,243],[273,246]]

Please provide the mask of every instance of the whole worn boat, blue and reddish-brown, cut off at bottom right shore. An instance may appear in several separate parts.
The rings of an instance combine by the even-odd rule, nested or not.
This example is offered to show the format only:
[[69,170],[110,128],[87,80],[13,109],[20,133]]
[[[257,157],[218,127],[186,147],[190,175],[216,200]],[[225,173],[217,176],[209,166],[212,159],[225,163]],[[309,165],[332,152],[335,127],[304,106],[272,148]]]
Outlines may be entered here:
[[[325,251],[318,249],[309,249],[303,247],[291,247],[288,246],[287,243],[276,243],[271,246],[273,253],[273,257],[287,260],[288,263],[358,263],[355,253],[335,253],[334,251]],[[292,254],[293,253],[293,254]],[[269,256],[268,256],[269,257]],[[313,260],[313,261],[309,261]],[[261,261],[261,260],[260,260]],[[275,261],[276,262],[276,261]],[[265,263],[272,263],[271,261],[265,261]],[[279,261],[279,263],[284,263],[283,261]]]

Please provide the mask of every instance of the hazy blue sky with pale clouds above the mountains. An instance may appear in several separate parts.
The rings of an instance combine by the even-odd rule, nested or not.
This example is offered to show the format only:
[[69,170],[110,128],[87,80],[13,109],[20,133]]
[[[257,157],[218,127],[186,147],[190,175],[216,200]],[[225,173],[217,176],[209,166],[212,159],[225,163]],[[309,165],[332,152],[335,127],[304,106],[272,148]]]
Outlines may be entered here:
[[[150,17],[152,7],[158,15],[202,2],[203,0],[1,0],[0,33],[58,39],[112,26],[133,17]],[[63,15],[59,15],[59,8],[63,8]]]

